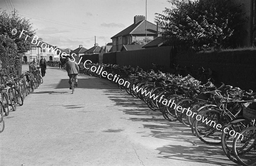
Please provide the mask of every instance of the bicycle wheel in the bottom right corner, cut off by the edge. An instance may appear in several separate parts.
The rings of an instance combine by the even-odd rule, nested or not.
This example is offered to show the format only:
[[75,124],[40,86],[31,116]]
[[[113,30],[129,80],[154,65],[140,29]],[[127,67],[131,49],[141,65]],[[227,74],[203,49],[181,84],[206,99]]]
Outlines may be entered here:
[[237,135],[233,143],[236,159],[243,166],[256,165],[256,127],[248,127]]

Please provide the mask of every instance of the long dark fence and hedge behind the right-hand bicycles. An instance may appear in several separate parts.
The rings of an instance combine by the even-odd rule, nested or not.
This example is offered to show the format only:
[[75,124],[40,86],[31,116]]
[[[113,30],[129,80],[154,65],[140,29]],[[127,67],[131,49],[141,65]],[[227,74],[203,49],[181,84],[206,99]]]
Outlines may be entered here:
[[152,69],[151,62],[163,65],[165,72],[171,71],[172,64],[193,65],[195,69],[210,68],[216,82],[224,82],[243,89],[256,90],[256,50],[234,50],[210,53],[173,53],[172,47],[147,48],[135,51],[117,51],[84,55],[83,60],[93,63],[111,63],[139,66]]

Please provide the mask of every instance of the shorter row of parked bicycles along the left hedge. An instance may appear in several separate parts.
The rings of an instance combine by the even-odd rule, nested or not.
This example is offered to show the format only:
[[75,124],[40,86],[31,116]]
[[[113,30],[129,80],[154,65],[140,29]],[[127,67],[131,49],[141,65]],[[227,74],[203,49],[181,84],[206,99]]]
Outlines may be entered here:
[[27,95],[43,83],[40,67],[29,65],[29,71],[19,75],[12,66],[0,71],[0,133],[5,128],[4,116],[16,111],[17,105],[22,106]]

